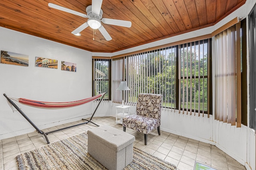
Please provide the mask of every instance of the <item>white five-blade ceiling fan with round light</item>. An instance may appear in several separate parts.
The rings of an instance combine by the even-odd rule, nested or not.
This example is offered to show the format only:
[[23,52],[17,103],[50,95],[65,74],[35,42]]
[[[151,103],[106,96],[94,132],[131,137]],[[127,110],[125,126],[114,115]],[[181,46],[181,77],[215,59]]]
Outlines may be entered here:
[[110,18],[102,18],[103,11],[101,9],[102,0],[92,0],[92,5],[86,7],[86,14],[82,14],[80,12],[70,10],[68,8],[49,3],[48,6],[51,8],[55,8],[57,10],[61,10],[64,12],[68,12],[70,14],[74,14],[77,16],[81,16],[83,18],[88,18],[87,22],[80,25],[78,28],[76,28],[71,33],[74,35],[81,35],[80,32],[84,29],[86,29],[88,26],[90,26],[92,29],[99,29],[100,33],[104,36],[104,38],[107,41],[110,41],[112,38],[109,35],[109,33],[106,31],[106,29],[103,27],[102,23],[110,24],[110,25],[117,25],[122,27],[131,27],[132,22],[131,21],[124,21],[124,20],[115,20]]

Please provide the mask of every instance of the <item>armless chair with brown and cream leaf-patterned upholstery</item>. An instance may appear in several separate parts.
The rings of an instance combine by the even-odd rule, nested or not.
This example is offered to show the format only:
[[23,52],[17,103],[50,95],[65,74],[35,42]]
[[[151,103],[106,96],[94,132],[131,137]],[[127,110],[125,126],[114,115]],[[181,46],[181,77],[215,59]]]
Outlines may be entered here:
[[136,105],[136,114],[123,118],[123,131],[126,127],[144,133],[145,145],[147,145],[148,133],[157,128],[160,135],[161,124],[161,94],[140,93]]

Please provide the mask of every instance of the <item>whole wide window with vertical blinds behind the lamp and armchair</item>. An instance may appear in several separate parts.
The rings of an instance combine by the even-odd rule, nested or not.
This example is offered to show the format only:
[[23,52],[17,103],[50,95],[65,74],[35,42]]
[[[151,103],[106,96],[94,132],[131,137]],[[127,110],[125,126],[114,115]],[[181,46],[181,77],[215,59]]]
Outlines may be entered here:
[[[136,104],[139,93],[155,93],[163,95],[165,108],[186,114],[210,113],[209,44],[206,39],[113,59],[112,72],[117,78],[112,80],[112,90],[122,79],[130,88],[124,96],[127,104]],[[118,96],[113,96],[113,102],[120,103]]]

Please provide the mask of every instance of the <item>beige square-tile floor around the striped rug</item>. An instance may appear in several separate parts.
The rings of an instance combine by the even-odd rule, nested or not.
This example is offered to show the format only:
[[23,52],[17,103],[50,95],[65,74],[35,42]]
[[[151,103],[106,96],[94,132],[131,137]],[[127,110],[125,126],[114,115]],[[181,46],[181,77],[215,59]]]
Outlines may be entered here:
[[[44,132],[75,125],[77,121],[44,129]],[[122,125],[115,123],[115,117],[95,117],[94,123],[110,125],[122,130]],[[51,133],[50,143],[66,139],[96,127],[92,123]],[[177,166],[178,170],[193,170],[195,162],[201,162],[217,170],[245,170],[245,167],[217,147],[186,137],[157,130],[148,135],[148,145],[144,145],[144,135],[126,128],[126,132],[135,136],[134,146]],[[17,170],[16,156],[47,145],[42,135],[36,131],[0,141],[0,170]]]

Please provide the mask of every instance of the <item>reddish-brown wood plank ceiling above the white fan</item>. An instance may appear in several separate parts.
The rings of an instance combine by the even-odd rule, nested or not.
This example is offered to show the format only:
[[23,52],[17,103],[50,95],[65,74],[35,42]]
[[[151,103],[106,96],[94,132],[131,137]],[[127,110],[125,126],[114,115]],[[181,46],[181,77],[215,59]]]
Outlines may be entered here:
[[112,37],[87,27],[81,36],[71,32],[87,21],[54,8],[57,4],[83,14],[92,0],[1,0],[0,26],[91,52],[116,52],[214,25],[246,0],[103,0],[103,18],[127,20],[132,27],[102,23]]

